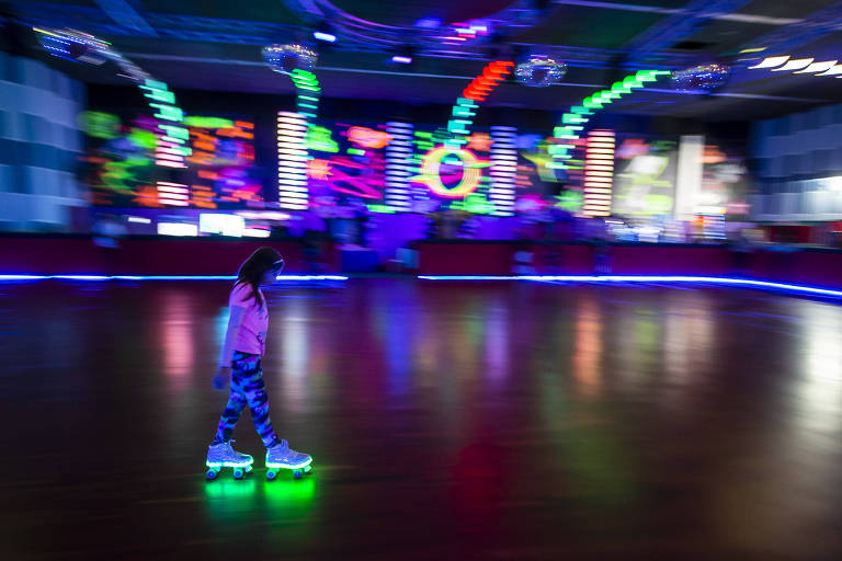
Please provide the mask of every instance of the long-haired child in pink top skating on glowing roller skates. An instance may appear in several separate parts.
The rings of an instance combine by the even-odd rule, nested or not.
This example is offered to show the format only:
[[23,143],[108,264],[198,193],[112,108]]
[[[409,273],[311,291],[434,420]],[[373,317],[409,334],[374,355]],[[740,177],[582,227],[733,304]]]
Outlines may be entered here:
[[[311,458],[289,448],[286,440],[275,436],[269,420],[269,396],[263,383],[260,359],[263,355],[269,312],[260,286],[275,282],[284,266],[281,254],[272,248],[257,250],[237,275],[237,283],[228,300],[230,318],[225,334],[219,371],[214,377],[214,387],[224,389],[231,380],[228,404],[219,420],[216,437],[207,449],[208,479],[216,477],[221,467],[236,468],[235,477],[242,477],[242,470],[251,470],[252,457],[231,448],[234,425],[248,403],[254,428],[266,446],[268,477],[273,479],[277,468],[300,469],[309,467]],[[213,476],[212,476],[213,472]],[[300,472],[296,471],[296,477]]]

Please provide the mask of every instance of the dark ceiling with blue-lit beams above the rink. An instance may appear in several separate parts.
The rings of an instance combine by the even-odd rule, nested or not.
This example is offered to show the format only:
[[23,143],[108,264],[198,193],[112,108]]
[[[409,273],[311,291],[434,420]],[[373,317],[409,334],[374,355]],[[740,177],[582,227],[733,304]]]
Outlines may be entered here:
[[[680,94],[663,81],[612,111],[703,121],[759,119],[842,102],[842,80],[750,70],[737,53],[765,47],[817,60],[842,59],[839,0],[54,0],[5,2],[26,25],[72,27],[114,48],[172,88],[292,93],[261,59],[269,43],[309,41],[327,22],[339,36],[319,46],[323,94],[410,104],[455,101],[491,57],[553,54],[568,65],[551,88],[501,84],[488,105],[562,111],[636,69],[733,62],[713,95]],[[426,26],[419,26],[425,20]],[[448,45],[455,22],[489,33]],[[435,27],[430,22],[441,22]],[[33,45],[36,47],[37,45]],[[410,46],[411,67],[388,62]],[[759,56],[759,55],[754,55]],[[762,58],[762,57],[761,57]],[[80,80],[120,83],[104,67],[50,64]]]

